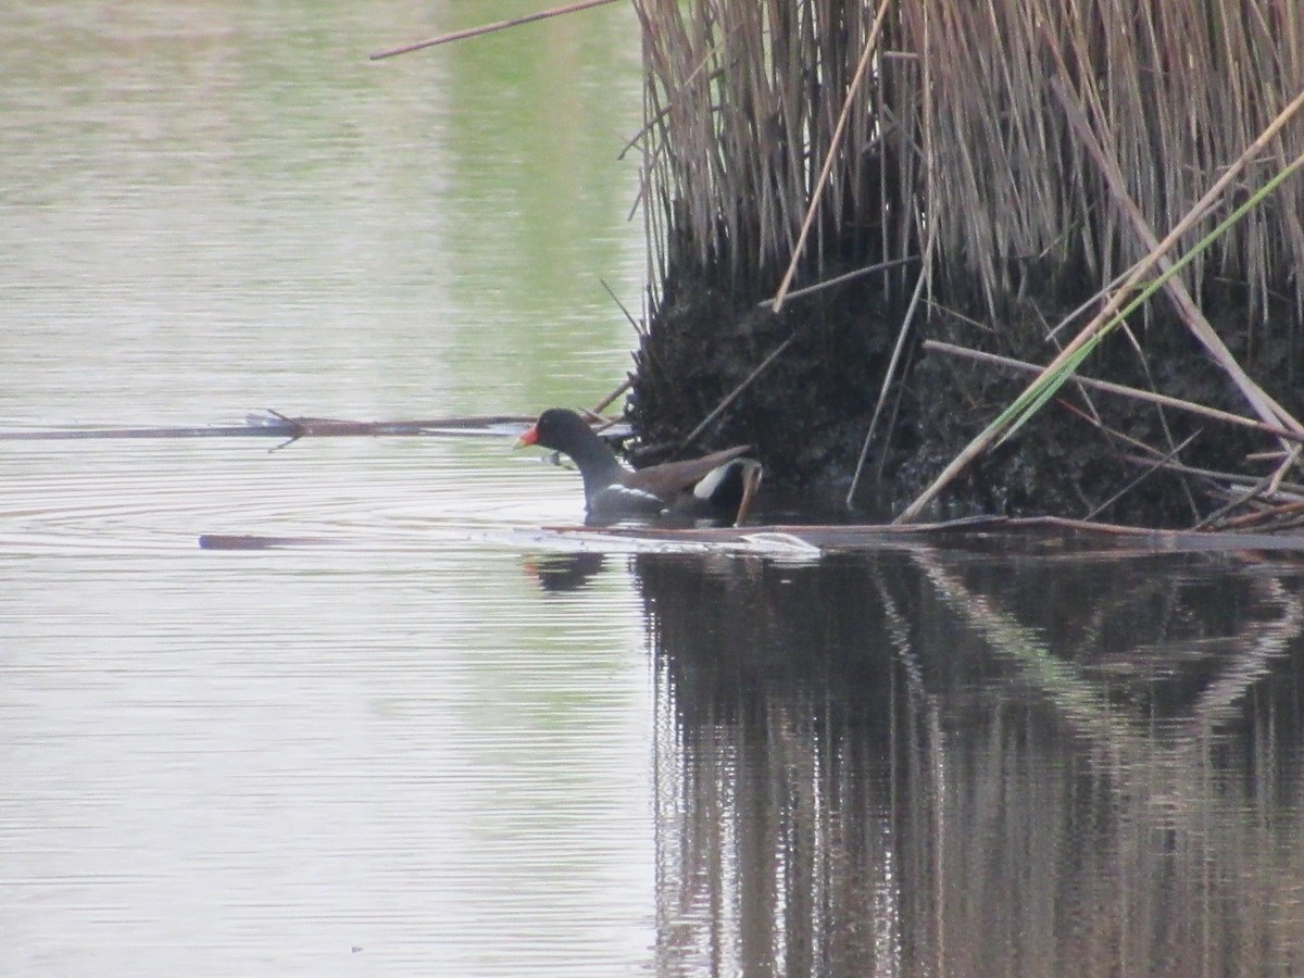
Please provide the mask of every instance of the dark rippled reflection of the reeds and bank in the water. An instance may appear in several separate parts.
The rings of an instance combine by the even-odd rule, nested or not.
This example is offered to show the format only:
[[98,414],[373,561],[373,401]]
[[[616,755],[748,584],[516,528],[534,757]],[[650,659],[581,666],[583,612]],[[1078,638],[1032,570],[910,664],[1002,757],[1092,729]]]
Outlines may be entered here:
[[1292,576],[927,550],[636,574],[661,973],[1304,966]]

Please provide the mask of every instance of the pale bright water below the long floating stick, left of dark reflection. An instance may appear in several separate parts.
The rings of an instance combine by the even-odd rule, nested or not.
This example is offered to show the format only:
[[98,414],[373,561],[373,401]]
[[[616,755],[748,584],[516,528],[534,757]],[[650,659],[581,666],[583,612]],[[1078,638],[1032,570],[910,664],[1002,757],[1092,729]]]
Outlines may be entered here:
[[447,526],[452,480],[502,520],[533,464],[426,439],[428,485],[399,485],[398,441],[65,447],[0,490],[7,968],[645,957],[649,672],[622,574],[558,596],[519,553],[447,539],[218,553],[194,533],[296,519],[347,542],[422,506]]

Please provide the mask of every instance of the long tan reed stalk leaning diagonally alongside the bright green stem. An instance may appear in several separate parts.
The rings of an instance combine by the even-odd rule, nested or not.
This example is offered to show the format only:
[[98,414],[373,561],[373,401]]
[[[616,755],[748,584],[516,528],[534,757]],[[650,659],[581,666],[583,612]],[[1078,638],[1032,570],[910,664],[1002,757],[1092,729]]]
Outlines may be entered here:
[[[1064,364],[1069,363],[1078,353],[1078,351],[1081,351],[1084,347],[1088,346],[1088,343],[1094,342],[1097,339],[1097,334],[1104,331],[1106,327],[1114,323],[1116,314],[1127,304],[1128,296],[1132,295],[1134,291],[1137,291],[1141,282],[1151,273],[1151,270],[1159,262],[1159,258],[1162,258],[1168,250],[1171,250],[1174,245],[1176,245],[1176,243],[1201,218],[1205,216],[1205,214],[1213,206],[1214,201],[1217,201],[1218,197],[1223,193],[1223,190],[1226,190],[1227,186],[1237,176],[1240,176],[1240,172],[1249,164],[1249,160],[1253,159],[1258,153],[1264,150],[1265,146],[1267,146],[1269,142],[1273,141],[1277,133],[1281,132],[1281,129],[1295,116],[1295,113],[1301,107],[1304,107],[1304,93],[1300,93],[1286,108],[1283,108],[1278,113],[1278,116],[1267,125],[1267,128],[1265,128],[1264,132],[1260,133],[1258,138],[1256,138],[1245,149],[1245,151],[1241,153],[1241,155],[1230,167],[1227,167],[1223,175],[1214,181],[1214,184],[1209,188],[1209,190],[1205,192],[1204,197],[1196,201],[1196,203],[1187,211],[1187,215],[1172,227],[1172,230],[1159,243],[1159,245],[1154,248],[1141,261],[1138,261],[1136,265],[1132,266],[1132,270],[1129,271],[1128,276],[1123,280],[1123,284],[1119,286],[1118,291],[1110,297],[1110,300],[1104,304],[1101,312],[1095,314],[1095,318],[1091,319],[1091,322],[1089,322],[1086,326],[1084,326],[1078,331],[1078,334],[1059,352],[1059,355],[1056,355],[1055,359],[1046,365],[1046,369],[1042,370],[1041,376],[1038,376],[1038,378],[1033,381],[1031,385],[1029,385],[1029,387],[1024,391],[1024,394],[1020,395],[1018,399],[1016,399],[1015,402],[1016,404],[1018,403],[1018,400],[1028,398],[1039,386],[1043,386],[1043,378],[1051,377],[1056,372],[1059,372],[1064,366]],[[1281,183],[1282,179],[1288,176],[1301,164],[1304,164],[1304,154],[1292,160],[1286,167],[1286,170],[1277,173],[1273,177],[1273,180],[1269,181],[1269,184]],[[1244,214],[1245,209],[1247,209],[1245,205],[1237,207],[1235,211],[1232,211],[1232,216],[1228,218],[1226,222],[1223,222],[1223,224],[1239,219]],[[1191,261],[1194,257],[1194,254],[1196,254],[1194,252],[1188,253],[1187,256],[1184,256],[1183,262],[1180,263]],[[1286,419],[1278,419],[1278,420],[1286,421]],[[999,421],[1001,421],[1001,419],[998,419],[992,424],[987,425],[982,432],[979,432],[973,438],[973,441],[970,441],[969,445],[966,445],[964,450],[947,464],[947,467],[941,471],[941,473],[932,480],[928,488],[925,489],[922,493],[919,493],[919,496],[914,499],[914,502],[911,502],[896,518],[895,522],[909,523],[910,520],[915,519],[923,511],[923,509],[930,502],[932,502],[943,489],[945,489],[951,484],[951,481],[957,475],[960,475],[965,468],[968,468],[969,464],[975,458],[978,458],[982,452],[985,452],[992,445],[992,442],[996,441],[996,438],[1003,436],[1008,430],[1008,421],[1005,422],[999,422]],[[1290,422],[1287,421],[1287,424]],[[1297,425],[1297,422],[1295,424]],[[1295,425],[1291,426],[1294,428]]]

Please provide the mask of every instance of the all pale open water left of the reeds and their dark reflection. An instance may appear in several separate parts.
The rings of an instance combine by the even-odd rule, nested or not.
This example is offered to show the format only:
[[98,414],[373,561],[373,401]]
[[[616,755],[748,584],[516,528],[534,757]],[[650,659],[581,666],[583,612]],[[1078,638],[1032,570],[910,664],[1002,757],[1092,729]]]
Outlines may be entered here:
[[[631,13],[366,61],[496,16],[9,10],[0,428],[605,394],[600,279],[642,287]],[[502,541],[582,497],[509,443],[0,441],[0,971],[645,960],[631,584],[539,588]]]

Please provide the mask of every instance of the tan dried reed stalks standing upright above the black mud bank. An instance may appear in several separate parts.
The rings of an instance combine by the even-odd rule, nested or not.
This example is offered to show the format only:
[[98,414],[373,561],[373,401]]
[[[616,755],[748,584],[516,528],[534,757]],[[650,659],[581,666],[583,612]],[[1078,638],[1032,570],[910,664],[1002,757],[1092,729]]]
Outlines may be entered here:
[[[926,230],[938,235],[938,267],[970,276],[994,309],[1029,262],[1107,282],[1148,250],[1106,206],[1118,189],[1149,227],[1175,226],[1304,90],[1296,0],[635,7],[656,280],[691,258],[758,299],[795,257],[808,282],[845,270],[829,259],[849,240],[874,245],[870,259],[888,259],[918,253]],[[880,7],[883,53],[853,86]],[[1123,176],[1115,192],[1071,134],[1047,83],[1055,76]],[[844,117],[848,132],[835,145]],[[1244,186],[1300,151],[1304,126],[1281,132]],[[825,168],[828,189],[816,201]],[[811,241],[795,256],[808,210]],[[1252,340],[1274,339],[1258,316],[1270,296],[1292,292],[1304,308],[1304,276],[1295,274],[1304,265],[1301,215],[1304,189],[1283,188],[1192,265],[1187,288],[1200,295],[1211,276],[1244,280]]]

